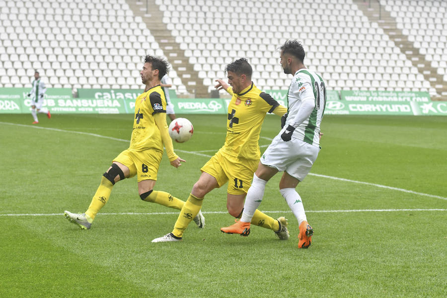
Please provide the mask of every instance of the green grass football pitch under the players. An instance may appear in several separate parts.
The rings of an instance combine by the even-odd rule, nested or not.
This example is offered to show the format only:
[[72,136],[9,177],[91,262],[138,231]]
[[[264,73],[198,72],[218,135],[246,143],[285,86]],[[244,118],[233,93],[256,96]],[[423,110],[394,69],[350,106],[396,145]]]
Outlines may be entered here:
[[[178,115],[194,136],[164,155],[156,190],[186,200],[200,167],[222,147],[225,115]],[[447,117],[325,116],[321,151],[297,187],[314,228],[298,223],[267,185],[260,209],[286,216],[291,238],[267,229],[223,234],[226,186],[205,197],[206,227],[182,242],[151,243],[177,210],[140,200],[136,178],[117,183],[90,230],[84,212],[101,175],[129,145],[133,115],[0,115],[0,297],[447,297]],[[268,116],[263,151],[279,131]]]

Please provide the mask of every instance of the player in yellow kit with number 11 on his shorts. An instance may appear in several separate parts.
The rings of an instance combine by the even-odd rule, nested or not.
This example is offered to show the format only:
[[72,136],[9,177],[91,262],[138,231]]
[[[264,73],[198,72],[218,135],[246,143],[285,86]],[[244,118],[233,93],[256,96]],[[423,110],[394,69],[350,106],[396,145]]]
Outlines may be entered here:
[[[266,113],[283,116],[287,109],[270,95],[259,90],[251,81],[252,68],[245,58],[226,66],[228,83],[218,79],[216,88],[232,95],[228,105],[224,146],[201,168],[202,174],[178,216],[171,233],[152,242],[179,241],[188,224],[198,214],[204,196],[228,182],[226,207],[239,218],[245,195],[260,158],[259,134]],[[280,239],[288,239],[287,221],[275,220],[256,210],[252,224],[272,229]]]

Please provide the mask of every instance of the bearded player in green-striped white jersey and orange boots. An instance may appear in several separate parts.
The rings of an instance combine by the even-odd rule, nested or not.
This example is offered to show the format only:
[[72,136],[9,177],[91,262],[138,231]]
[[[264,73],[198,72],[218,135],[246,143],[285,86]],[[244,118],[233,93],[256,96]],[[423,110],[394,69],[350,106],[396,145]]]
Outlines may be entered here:
[[284,73],[293,74],[288,93],[288,114],[283,118],[282,130],[261,157],[245,198],[240,221],[221,230],[248,236],[251,219],[261,204],[267,181],[284,171],[279,184],[280,192],[298,220],[298,248],[307,248],[311,244],[313,229],[307,223],[301,197],[295,188],[309,173],[320,150],[320,124],[326,104],[326,87],[319,74],[305,68],[305,53],[298,41],[287,41],[279,49]]

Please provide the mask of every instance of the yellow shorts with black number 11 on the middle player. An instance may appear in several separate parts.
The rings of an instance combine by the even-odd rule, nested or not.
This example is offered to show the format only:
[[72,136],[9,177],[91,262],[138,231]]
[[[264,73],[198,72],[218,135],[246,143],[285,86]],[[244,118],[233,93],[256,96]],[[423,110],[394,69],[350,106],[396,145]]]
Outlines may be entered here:
[[219,187],[228,181],[227,192],[232,195],[247,193],[259,159],[245,159],[226,155],[219,150],[200,169],[216,178]]

